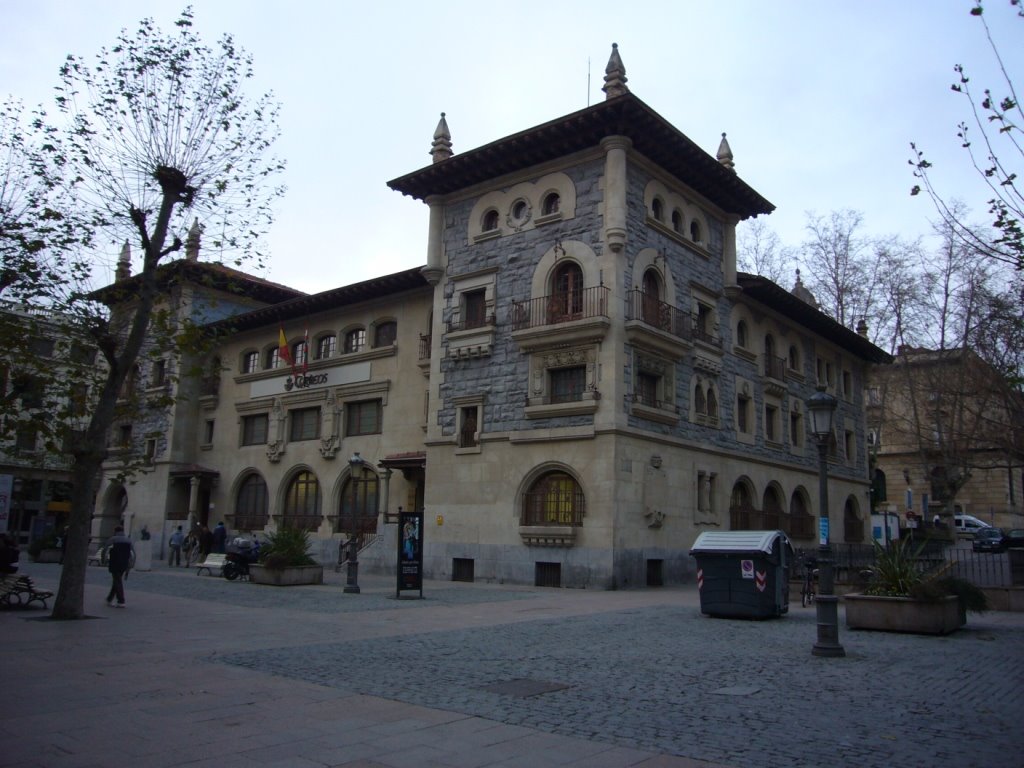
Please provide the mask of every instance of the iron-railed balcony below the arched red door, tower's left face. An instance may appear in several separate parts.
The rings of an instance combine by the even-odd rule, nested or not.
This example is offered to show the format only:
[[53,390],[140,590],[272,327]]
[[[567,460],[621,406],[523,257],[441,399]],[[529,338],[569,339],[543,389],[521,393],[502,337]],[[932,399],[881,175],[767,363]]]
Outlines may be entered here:
[[600,341],[607,334],[605,286],[512,302],[512,338],[521,351]]

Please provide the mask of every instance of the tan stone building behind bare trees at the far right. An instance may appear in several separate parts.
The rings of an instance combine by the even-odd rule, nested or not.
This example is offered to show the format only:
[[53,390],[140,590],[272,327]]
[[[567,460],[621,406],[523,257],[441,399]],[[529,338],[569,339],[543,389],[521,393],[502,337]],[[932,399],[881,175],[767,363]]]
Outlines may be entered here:
[[1024,398],[966,349],[902,347],[869,370],[874,500],[904,521],[1024,526]]

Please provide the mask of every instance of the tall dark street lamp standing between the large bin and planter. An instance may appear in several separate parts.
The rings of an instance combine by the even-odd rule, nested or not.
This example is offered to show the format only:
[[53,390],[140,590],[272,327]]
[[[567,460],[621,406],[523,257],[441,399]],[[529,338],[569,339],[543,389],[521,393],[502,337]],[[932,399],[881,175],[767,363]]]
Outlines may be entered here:
[[839,642],[839,598],[828,543],[828,440],[833,434],[836,398],[822,386],[807,399],[811,412],[811,434],[818,443],[818,596],[815,599],[818,639],[811,648],[815,656],[845,656]]

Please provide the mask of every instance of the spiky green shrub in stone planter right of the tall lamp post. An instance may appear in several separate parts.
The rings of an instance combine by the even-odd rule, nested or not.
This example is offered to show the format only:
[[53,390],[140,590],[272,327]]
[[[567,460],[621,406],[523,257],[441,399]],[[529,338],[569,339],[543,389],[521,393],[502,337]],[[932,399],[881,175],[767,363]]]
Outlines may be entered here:
[[862,594],[844,598],[850,629],[945,635],[967,623],[967,611],[988,608],[985,594],[963,579],[923,573],[909,540],[874,545],[874,571]]

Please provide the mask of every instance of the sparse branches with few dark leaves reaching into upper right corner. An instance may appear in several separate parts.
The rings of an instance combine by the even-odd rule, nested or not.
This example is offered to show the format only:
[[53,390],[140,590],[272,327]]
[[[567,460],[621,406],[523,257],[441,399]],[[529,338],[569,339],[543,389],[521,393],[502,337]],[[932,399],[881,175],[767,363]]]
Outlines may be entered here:
[[[1024,18],[1020,0],[1011,0],[1010,4],[1017,8],[1016,15]],[[948,198],[935,186],[930,175],[932,164],[915,143],[910,144],[913,158],[909,163],[914,169],[913,175],[919,179],[919,183],[913,186],[910,194],[919,195],[925,191],[935,205],[939,217],[964,245],[1022,269],[1024,268],[1024,223],[1022,223],[1024,190],[1018,184],[1014,167],[1024,159],[1024,142],[1021,140],[1024,112],[1017,97],[1014,75],[1007,70],[998,46],[992,39],[981,2],[971,9],[971,15],[976,17],[985,30],[985,38],[1001,74],[1002,95],[993,95],[989,88],[985,88],[979,95],[971,86],[967,69],[963,65],[956,65],[953,70],[957,80],[952,84],[952,90],[967,99],[970,112],[969,119],[956,126],[956,136],[967,151],[972,167],[988,187],[990,195],[987,201],[988,212],[992,217],[992,226],[998,234],[992,239],[978,237],[977,229],[962,217],[963,209],[957,209],[948,202]]]

